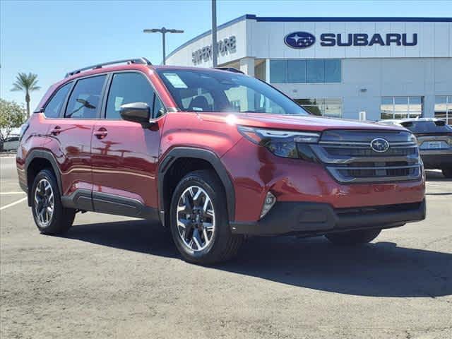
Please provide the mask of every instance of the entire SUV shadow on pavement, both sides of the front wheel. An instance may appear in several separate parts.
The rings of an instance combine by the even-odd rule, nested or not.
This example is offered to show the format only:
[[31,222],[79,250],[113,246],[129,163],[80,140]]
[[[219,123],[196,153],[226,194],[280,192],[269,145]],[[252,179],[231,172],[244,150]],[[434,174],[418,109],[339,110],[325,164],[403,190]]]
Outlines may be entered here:
[[[146,220],[78,225],[66,237],[180,258],[169,231]],[[245,242],[233,261],[212,269],[347,295],[452,295],[452,254],[400,247],[378,238],[373,244],[341,247],[324,237],[255,237]]]

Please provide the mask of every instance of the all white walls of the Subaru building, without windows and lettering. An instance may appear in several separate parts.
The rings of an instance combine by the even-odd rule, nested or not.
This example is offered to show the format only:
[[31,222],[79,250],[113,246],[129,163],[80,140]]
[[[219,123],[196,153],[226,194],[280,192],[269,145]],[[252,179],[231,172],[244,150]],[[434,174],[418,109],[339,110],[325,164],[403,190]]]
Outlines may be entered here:
[[[291,32],[309,32],[316,36],[313,46],[288,47],[284,37]],[[417,34],[416,46],[323,47],[323,33],[406,33],[408,41]],[[359,111],[367,119],[380,119],[382,96],[422,96],[424,117],[434,116],[435,95],[452,95],[452,23],[449,22],[283,22],[238,18],[218,29],[218,40],[235,36],[237,49],[219,56],[218,64],[238,61],[246,73],[254,74],[257,59],[341,59],[341,83],[273,84],[293,98],[338,97],[343,117],[358,119]],[[194,65],[192,52],[211,44],[210,34],[201,35],[179,48],[167,64],[210,67],[211,59]],[[266,65],[267,81],[269,64]],[[365,91],[362,91],[365,89]]]

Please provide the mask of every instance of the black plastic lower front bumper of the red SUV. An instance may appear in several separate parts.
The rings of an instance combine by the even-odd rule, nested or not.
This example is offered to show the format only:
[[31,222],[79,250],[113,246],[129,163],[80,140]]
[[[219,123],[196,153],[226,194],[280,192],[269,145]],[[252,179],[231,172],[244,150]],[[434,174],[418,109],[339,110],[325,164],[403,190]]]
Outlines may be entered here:
[[328,203],[278,202],[256,222],[231,222],[231,232],[249,235],[320,235],[349,230],[391,228],[425,219],[419,203],[333,208]]

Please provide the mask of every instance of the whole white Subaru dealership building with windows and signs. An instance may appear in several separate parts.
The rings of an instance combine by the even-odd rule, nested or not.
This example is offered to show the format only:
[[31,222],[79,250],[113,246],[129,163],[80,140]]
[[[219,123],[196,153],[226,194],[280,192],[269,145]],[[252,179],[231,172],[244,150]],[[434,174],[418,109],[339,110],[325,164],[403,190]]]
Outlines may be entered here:
[[[452,18],[270,18],[218,27],[218,66],[267,81],[314,114],[452,124]],[[212,66],[211,32],[168,65]],[[364,112],[364,113],[360,113]]]

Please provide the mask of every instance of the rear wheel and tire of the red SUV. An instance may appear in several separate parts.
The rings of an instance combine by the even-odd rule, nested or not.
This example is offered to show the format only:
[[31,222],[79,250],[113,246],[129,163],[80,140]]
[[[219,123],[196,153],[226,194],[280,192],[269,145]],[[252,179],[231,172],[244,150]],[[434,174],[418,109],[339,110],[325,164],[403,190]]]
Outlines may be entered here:
[[64,234],[72,226],[76,210],[63,207],[52,170],[42,169],[37,174],[30,198],[33,218],[42,234]]

